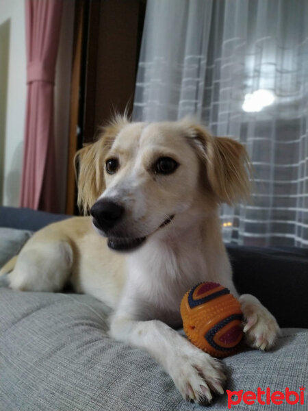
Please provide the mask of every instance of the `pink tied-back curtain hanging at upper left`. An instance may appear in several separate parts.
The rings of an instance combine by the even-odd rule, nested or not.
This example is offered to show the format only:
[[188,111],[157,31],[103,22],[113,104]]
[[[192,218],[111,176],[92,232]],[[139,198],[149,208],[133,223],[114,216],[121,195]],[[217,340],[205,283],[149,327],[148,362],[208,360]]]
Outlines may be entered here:
[[25,0],[27,110],[22,207],[57,211],[53,140],[53,86],[62,0]]

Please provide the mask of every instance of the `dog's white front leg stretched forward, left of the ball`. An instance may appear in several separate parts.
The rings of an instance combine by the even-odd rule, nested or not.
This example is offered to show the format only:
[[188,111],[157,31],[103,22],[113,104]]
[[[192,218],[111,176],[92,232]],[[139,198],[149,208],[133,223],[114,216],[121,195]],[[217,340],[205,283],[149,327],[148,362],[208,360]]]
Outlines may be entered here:
[[172,377],[184,399],[207,403],[212,399],[211,392],[223,394],[225,376],[220,362],[194,347],[162,321],[141,321],[124,312],[116,312],[110,335],[148,351]]

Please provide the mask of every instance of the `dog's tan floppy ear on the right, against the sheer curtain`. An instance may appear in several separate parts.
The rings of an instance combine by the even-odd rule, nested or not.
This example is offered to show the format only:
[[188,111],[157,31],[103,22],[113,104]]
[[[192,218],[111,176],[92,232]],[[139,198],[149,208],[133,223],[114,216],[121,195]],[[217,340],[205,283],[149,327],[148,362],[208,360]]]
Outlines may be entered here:
[[214,137],[200,125],[190,127],[190,141],[205,165],[207,180],[221,203],[250,197],[251,162],[245,147],[228,137]]

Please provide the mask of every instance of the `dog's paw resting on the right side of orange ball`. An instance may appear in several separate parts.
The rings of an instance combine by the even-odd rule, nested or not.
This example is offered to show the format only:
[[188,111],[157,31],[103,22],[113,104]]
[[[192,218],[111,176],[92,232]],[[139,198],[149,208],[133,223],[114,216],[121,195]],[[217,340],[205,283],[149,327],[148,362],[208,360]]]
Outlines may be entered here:
[[272,347],[280,334],[274,316],[253,295],[241,295],[240,303],[246,321],[243,329],[246,343],[261,351]]

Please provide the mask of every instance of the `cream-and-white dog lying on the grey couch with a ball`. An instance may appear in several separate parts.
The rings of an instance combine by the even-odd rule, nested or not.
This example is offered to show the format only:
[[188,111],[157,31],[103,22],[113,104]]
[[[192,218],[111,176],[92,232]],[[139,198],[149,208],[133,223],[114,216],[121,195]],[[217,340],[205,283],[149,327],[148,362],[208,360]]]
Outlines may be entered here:
[[224,393],[222,364],[181,336],[179,306],[198,282],[238,297],[248,345],[265,350],[279,334],[272,314],[238,295],[222,242],[220,203],[249,195],[249,160],[239,142],[189,119],[101,129],[77,153],[78,203],[87,215],[34,234],[3,267],[13,290],[77,292],[113,310],[110,336],[148,351],[184,399]]

